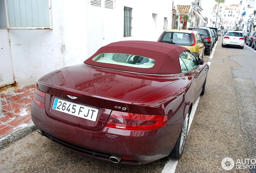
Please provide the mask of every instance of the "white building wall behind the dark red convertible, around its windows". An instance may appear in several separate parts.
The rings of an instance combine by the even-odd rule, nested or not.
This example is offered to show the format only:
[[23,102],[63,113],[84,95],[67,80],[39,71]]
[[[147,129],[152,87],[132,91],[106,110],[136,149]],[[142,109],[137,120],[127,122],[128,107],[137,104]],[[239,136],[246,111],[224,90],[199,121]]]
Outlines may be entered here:
[[[124,6],[132,8],[131,37],[123,36]],[[52,70],[83,63],[110,42],[157,41],[171,28],[171,10],[170,0],[114,0],[112,10],[93,7],[90,0],[52,0],[53,30],[9,30],[15,80],[19,87],[35,84]]]

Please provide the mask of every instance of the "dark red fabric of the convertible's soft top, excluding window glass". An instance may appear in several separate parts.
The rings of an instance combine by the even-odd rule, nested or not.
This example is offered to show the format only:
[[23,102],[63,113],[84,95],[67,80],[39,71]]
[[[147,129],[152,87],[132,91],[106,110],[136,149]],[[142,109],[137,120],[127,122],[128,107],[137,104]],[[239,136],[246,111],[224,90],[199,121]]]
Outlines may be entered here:
[[[84,63],[103,68],[147,74],[178,74],[181,73],[179,56],[184,51],[189,50],[178,45],[163,42],[120,41],[101,47],[93,56],[85,60]],[[136,68],[92,60],[92,58],[101,53],[123,53],[145,56],[155,59],[155,65],[151,68]]]

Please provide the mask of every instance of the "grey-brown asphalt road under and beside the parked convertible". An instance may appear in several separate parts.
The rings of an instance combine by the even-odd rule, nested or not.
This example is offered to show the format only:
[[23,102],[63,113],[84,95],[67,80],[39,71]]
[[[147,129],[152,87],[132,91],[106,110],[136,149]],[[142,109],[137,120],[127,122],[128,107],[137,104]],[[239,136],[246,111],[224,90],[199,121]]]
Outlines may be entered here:
[[[176,173],[228,172],[221,166],[226,157],[234,161],[229,172],[256,172],[237,169],[256,165],[256,52],[248,47],[222,48],[221,39],[214,56],[204,58],[211,62],[206,91]],[[64,149],[36,131],[0,149],[0,155],[1,173],[161,173],[169,163],[167,158],[137,166],[99,161]]]

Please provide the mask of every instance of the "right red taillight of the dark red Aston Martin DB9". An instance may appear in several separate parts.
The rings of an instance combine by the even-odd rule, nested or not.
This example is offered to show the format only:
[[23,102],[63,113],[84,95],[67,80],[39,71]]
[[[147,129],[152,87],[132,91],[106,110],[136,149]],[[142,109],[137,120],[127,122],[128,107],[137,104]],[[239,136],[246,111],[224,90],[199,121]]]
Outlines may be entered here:
[[106,127],[123,130],[148,131],[159,129],[167,123],[166,115],[143,115],[112,111]]

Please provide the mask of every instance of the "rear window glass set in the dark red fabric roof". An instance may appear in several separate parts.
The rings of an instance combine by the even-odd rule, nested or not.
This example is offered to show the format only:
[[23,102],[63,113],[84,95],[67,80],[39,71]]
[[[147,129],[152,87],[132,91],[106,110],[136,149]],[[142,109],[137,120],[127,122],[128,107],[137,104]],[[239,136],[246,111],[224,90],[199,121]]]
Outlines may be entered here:
[[93,61],[136,68],[151,68],[155,64],[152,58],[122,53],[101,53],[95,56]]

